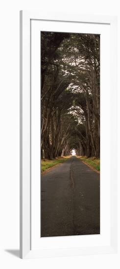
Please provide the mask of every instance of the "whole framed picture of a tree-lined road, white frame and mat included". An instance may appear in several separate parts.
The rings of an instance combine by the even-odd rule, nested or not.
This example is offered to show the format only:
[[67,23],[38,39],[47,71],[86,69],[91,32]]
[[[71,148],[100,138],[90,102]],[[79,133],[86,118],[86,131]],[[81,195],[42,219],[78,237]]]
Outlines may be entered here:
[[117,17],[20,12],[20,257],[117,252]]

